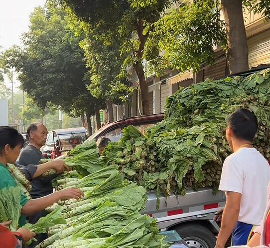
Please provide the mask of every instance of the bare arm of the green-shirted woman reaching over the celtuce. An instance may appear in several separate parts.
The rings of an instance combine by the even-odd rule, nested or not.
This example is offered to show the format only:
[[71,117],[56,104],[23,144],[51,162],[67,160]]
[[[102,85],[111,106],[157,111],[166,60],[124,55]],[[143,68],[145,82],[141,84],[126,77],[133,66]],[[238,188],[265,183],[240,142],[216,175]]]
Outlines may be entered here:
[[81,199],[83,192],[77,188],[57,191],[47,196],[29,200],[21,209],[21,214],[31,215],[51,206],[58,200]]

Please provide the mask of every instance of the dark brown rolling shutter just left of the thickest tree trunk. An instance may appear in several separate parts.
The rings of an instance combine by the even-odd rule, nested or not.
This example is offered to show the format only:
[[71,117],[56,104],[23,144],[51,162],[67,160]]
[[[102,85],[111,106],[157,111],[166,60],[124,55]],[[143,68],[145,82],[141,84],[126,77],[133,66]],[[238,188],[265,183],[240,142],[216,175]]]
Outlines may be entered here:
[[226,56],[225,54],[216,60],[213,66],[206,67],[203,72],[203,79],[221,79],[225,77],[226,73]]

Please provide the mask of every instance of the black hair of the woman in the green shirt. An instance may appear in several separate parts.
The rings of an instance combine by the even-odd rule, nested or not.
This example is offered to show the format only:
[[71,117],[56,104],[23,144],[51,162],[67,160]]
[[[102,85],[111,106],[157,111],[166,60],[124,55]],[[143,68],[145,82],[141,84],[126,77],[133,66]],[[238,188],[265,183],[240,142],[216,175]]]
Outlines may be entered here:
[[11,148],[15,148],[17,145],[22,147],[23,144],[24,139],[15,128],[0,126],[0,154],[6,145],[9,145]]

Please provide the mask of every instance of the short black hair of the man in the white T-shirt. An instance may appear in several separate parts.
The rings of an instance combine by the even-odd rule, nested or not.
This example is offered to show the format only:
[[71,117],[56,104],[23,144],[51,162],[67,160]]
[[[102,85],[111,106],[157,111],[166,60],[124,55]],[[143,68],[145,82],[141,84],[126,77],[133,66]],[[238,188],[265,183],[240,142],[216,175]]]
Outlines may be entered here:
[[253,141],[258,130],[256,115],[246,108],[240,108],[233,112],[228,119],[228,125],[237,138],[247,141]]

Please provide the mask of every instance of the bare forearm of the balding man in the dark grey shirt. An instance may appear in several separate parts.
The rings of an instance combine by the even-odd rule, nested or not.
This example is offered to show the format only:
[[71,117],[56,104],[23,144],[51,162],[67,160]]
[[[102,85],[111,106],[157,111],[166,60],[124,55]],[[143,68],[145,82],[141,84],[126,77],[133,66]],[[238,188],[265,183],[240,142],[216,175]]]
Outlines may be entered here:
[[33,178],[36,178],[50,169],[55,169],[57,173],[63,173],[65,170],[70,170],[70,167],[66,166],[63,160],[52,160],[42,165],[38,165]]

